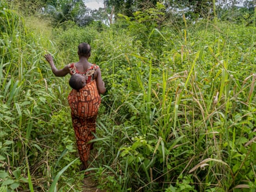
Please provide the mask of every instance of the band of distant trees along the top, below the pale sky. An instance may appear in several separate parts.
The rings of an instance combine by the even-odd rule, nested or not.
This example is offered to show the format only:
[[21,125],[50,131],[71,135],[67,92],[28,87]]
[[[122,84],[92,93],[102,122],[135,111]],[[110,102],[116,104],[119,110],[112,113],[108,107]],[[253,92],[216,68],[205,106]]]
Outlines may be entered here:
[[[46,17],[51,20],[53,26],[62,25],[67,21],[72,21],[78,26],[88,26],[94,21],[100,21],[101,24],[111,25],[118,21],[118,14],[129,18],[136,18],[136,12],[150,12],[150,9],[156,9],[159,4],[164,8],[161,12],[168,20],[180,22],[182,17],[186,17],[187,22],[198,21],[200,19],[212,19],[217,17],[222,20],[228,20],[232,23],[241,23],[245,21],[247,25],[253,24],[254,4],[253,0],[204,0],[204,1],[113,1],[105,0],[104,7],[98,10],[91,10],[85,6],[81,0],[33,0],[33,1],[9,1],[12,9],[18,9],[25,15],[36,15],[37,17]],[[152,14],[151,16],[153,16]],[[158,23],[159,24],[159,23]],[[162,22],[160,22],[160,25]]]

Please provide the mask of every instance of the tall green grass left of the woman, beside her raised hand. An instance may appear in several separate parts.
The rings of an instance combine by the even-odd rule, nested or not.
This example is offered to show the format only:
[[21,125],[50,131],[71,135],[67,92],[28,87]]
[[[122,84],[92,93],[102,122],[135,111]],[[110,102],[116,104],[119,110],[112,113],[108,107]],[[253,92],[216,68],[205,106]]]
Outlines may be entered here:
[[[68,87],[65,79],[51,78],[43,61],[47,47],[57,48],[45,34],[28,30],[24,19],[8,9],[7,4],[1,6],[1,190],[45,191],[51,175],[61,170],[51,168],[56,156],[67,147],[68,153],[61,163],[68,164],[75,157],[71,122],[56,124],[59,118],[69,117],[62,102],[67,96],[63,90]],[[71,139],[61,137],[66,132]],[[62,144],[55,145],[57,140]]]

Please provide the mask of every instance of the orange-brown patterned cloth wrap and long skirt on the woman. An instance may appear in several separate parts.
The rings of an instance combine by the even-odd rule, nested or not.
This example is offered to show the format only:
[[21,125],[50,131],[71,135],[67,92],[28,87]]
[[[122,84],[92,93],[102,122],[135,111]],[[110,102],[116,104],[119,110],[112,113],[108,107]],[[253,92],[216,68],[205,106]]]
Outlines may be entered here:
[[88,144],[88,141],[94,139],[93,133],[96,132],[96,118],[101,103],[96,81],[91,81],[80,90],[72,89],[68,102],[80,160],[84,163],[90,155],[92,143]]

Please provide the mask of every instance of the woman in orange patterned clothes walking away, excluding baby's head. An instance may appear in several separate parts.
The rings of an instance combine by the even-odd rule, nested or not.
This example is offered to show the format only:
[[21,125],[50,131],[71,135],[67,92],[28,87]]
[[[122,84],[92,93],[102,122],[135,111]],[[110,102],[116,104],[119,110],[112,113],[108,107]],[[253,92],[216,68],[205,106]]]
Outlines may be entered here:
[[[104,81],[101,78],[100,67],[91,64],[88,59],[91,55],[91,47],[88,43],[81,43],[78,46],[77,63],[69,63],[62,69],[57,69],[53,63],[51,54],[45,54],[45,59],[51,65],[53,74],[65,76],[67,74],[80,74],[84,76],[85,85],[79,89],[72,89],[68,95],[68,102],[71,108],[72,124],[77,140],[77,147],[80,156],[81,170],[88,168],[88,158],[96,132],[96,118],[101,103],[100,94],[106,92]],[[73,87],[73,83],[70,84]],[[88,174],[88,173],[85,173]]]

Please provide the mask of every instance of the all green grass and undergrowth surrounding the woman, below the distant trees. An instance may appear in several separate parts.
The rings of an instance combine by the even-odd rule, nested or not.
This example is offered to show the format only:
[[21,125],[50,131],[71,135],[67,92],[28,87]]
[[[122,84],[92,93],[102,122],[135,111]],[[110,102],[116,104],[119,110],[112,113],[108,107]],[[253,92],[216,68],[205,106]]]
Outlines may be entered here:
[[90,164],[97,188],[256,190],[256,28],[246,18],[166,21],[157,3],[111,26],[53,28],[12,6],[0,2],[0,191],[86,188],[68,76],[43,58],[61,68],[80,42],[107,86]]

